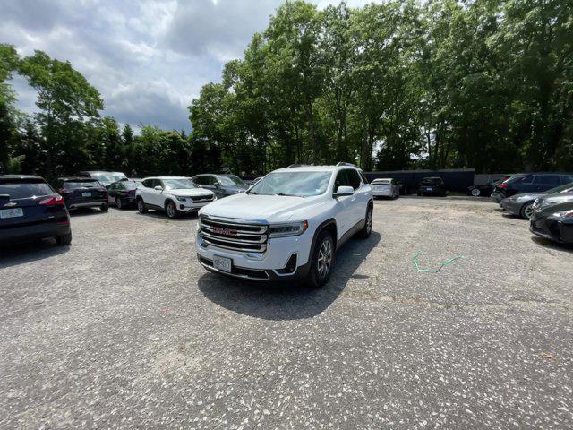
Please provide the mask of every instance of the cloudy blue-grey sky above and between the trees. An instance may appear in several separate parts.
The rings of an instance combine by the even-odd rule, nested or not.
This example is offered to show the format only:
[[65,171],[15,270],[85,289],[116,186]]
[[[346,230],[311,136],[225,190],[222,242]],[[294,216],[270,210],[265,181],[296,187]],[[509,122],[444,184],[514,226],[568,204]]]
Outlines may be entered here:
[[[371,0],[372,1],[372,0]],[[371,3],[351,0],[353,6]],[[69,60],[131,125],[190,130],[187,106],[223,64],[243,56],[282,0],[0,0],[0,43]],[[319,7],[338,0],[314,0]],[[19,107],[35,93],[15,77]]]

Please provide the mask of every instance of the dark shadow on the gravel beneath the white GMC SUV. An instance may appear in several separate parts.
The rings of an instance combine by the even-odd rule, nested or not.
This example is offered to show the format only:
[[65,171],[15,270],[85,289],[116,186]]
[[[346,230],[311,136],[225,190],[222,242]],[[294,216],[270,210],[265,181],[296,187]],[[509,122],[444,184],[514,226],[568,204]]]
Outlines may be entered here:
[[237,314],[264,320],[297,320],[321,314],[346,287],[351,278],[363,279],[355,271],[381,240],[372,232],[366,240],[351,239],[337,253],[329,283],[321,289],[290,283],[252,283],[206,272],[198,281],[205,297]]

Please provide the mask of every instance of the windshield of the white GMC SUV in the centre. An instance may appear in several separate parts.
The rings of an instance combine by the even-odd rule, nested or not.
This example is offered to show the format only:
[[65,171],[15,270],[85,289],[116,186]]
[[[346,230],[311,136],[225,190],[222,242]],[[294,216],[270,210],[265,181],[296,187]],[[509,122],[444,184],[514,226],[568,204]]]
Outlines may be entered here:
[[276,172],[269,173],[252,185],[250,194],[296,195],[310,197],[326,193],[332,172]]

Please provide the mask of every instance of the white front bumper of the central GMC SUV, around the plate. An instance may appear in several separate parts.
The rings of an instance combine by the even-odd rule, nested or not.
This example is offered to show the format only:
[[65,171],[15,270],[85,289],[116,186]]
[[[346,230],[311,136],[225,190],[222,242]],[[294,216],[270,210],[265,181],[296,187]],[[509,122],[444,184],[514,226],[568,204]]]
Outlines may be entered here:
[[[245,253],[207,245],[199,232],[196,237],[197,258],[205,269],[244,280],[292,281],[304,278],[308,273],[311,246],[312,233],[308,230],[301,236],[269,239],[264,253]],[[293,254],[296,254],[295,270],[284,272]],[[213,267],[215,255],[231,259],[231,273]]]

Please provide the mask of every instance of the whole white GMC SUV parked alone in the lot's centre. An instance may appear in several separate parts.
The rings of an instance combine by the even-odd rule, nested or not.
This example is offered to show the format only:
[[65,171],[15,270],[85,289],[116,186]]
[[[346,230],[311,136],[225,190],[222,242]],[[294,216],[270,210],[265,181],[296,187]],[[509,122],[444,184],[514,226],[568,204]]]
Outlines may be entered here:
[[209,271],[322,287],[340,245],[371,232],[372,188],[359,168],[291,166],[202,208],[196,249]]

